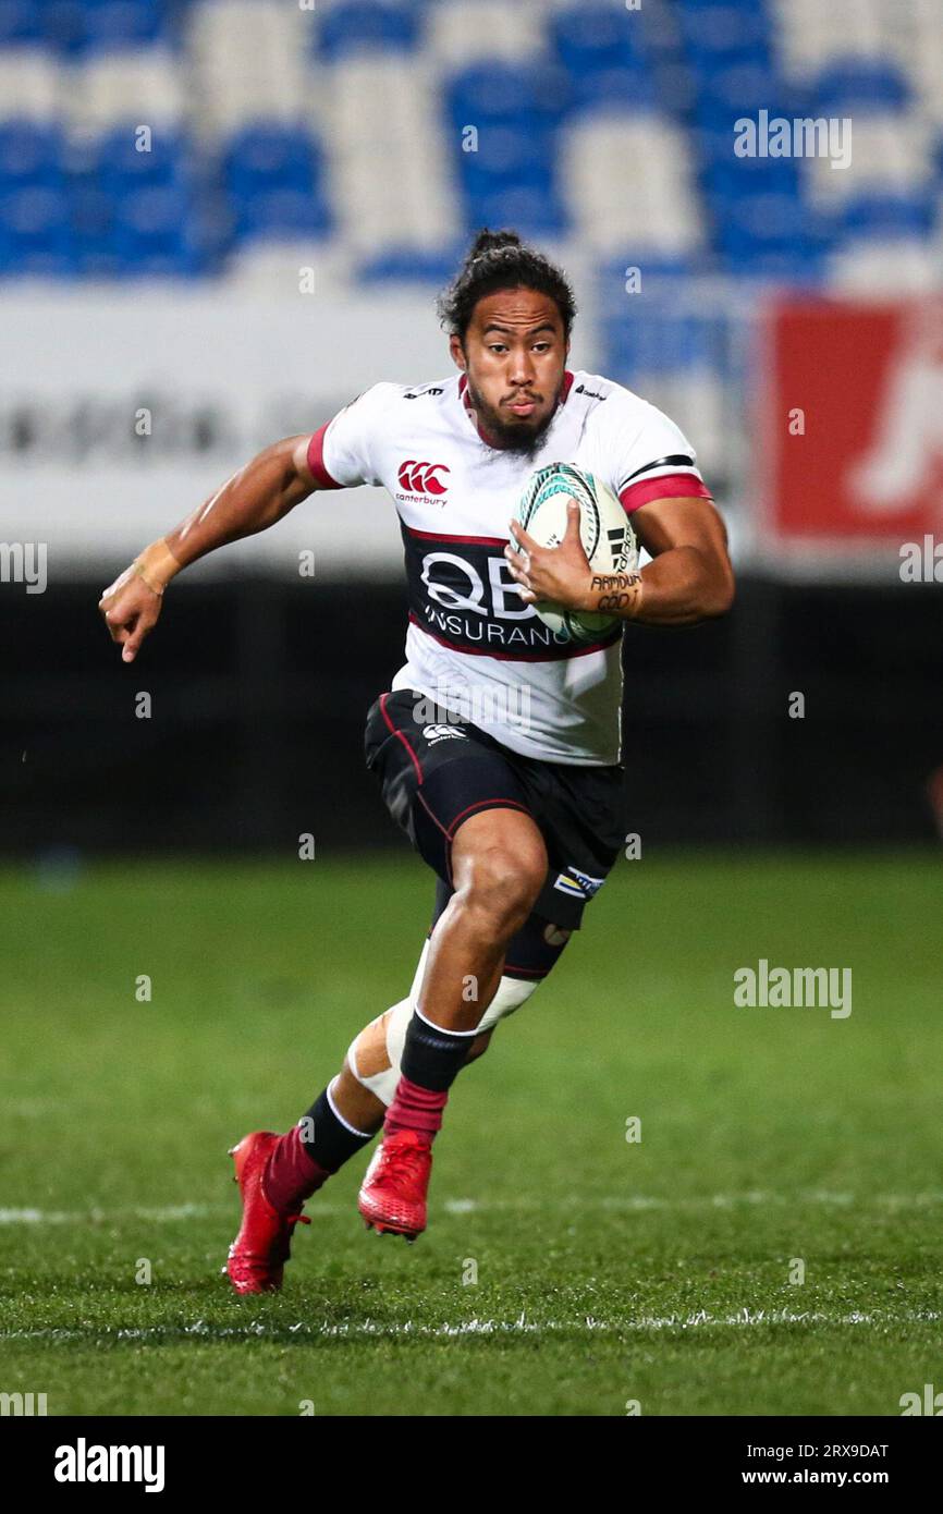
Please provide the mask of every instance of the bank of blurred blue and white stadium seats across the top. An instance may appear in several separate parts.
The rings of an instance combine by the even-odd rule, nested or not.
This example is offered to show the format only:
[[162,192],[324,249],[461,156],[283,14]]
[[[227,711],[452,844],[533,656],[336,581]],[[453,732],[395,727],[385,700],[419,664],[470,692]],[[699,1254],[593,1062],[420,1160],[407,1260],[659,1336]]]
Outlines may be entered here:
[[[330,242],[366,283],[431,282],[515,221],[664,279],[866,279],[875,247],[923,268],[940,77],[938,0],[0,0],[3,266],[227,248],[265,280],[289,247],[327,268]],[[736,157],[760,109],[852,117],[852,168]]]

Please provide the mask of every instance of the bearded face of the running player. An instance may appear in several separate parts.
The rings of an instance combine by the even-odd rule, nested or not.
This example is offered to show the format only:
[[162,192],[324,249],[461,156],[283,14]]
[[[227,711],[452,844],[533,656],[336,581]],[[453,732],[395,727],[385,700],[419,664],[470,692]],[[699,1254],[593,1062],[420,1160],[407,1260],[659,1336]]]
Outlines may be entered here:
[[451,354],[492,447],[534,456],[554,418],[568,342],[554,300],[534,289],[498,289],[478,300],[465,342]]

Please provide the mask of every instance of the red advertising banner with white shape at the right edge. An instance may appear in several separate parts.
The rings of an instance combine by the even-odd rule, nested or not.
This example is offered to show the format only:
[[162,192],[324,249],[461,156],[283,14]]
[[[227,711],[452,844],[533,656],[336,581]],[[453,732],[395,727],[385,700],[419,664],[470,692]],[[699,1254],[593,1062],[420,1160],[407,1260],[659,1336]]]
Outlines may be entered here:
[[943,528],[943,300],[772,310],[758,453],[780,542],[899,547]]

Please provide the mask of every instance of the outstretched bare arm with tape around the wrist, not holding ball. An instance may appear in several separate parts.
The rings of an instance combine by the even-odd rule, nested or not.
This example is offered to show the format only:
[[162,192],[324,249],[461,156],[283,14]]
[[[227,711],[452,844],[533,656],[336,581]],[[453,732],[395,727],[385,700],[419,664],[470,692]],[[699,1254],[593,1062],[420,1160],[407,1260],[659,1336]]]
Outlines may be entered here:
[[307,466],[310,436],[288,436],[253,457],[204,504],[115,578],[98,601],[121,660],[133,662],[157,622],[167,584],[188,563],[216,547],[263,531],[316,488]]

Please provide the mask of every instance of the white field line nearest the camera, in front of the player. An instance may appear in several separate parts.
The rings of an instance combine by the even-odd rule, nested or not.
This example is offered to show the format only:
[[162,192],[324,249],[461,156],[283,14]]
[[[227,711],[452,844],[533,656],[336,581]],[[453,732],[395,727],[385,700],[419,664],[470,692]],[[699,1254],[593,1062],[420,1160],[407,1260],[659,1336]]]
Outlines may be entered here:
[[552,1335],[554,1332],[584,1331],[596,1335],[619,1335],[630,1331],[684,1331],[698,1328],[745,1329],[757,1325],[899,1325],[934,1322],[943,1319],[937,1310],[911,1310],[902,1314],[852,1310],[849,1314],[829,1314],[823,1310],[737,1310],[736,1314],[708,1314],[695,1310],[690,1314],[640,1314],[639,1319],[601,1320],[584,1314],[572,1320],[528,1320],[519,1314],[516,1320],[489,1320],[474,1317],[454,1325],[422,1325],[416,1320],[384,1325],[380,1320],[357,1320],[341,1325],[265,1325],[256,1320],[250,1325],[207,1325],[195,1320],[192,1325],[145,1326],[141,1329],[11,1329],[0,1331],[0,1340],[115,1340],[115,1341],[174,1341],[174,1340],[448,1340],[457,1335]]

